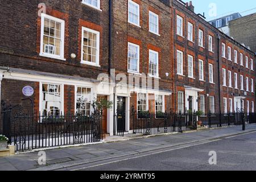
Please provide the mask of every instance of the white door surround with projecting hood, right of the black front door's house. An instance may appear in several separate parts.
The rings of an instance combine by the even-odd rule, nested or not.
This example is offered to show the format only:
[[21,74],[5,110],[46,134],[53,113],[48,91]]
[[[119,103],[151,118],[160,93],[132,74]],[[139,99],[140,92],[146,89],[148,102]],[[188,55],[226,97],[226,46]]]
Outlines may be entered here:
[[198,111],[198,92],[203,92],[203,89],[192,86],[184,86],[185,88],[185,108],[189,110],[189,96],[192,97],[192,111]]

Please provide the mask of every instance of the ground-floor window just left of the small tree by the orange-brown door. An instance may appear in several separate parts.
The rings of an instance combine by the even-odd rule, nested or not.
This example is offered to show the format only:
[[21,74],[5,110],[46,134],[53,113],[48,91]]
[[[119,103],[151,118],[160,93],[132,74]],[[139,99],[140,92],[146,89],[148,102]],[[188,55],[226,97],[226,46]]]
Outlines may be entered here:
[[76,88],[76,112],[90,115],[91,89],[81,86]]

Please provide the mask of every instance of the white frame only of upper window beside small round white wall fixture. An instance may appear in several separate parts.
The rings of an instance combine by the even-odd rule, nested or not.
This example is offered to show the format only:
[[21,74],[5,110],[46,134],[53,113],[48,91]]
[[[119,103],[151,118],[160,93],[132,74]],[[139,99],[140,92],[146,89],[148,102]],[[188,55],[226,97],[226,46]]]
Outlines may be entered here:
[[[96,53],[96,63],[90,62],[90,61],[85,61],[83,60],[84,58],[84,51],[83,51],[83,42],[84,42],[84,31],[91,32],[93,34],[97,35],[97,53]],[[88,65],[93,65],[96,67],[100,67],[100,32],[96,30],[92,30],[90,28],[82,27],[82,40],[81,40],[81,64],[88,64]]]

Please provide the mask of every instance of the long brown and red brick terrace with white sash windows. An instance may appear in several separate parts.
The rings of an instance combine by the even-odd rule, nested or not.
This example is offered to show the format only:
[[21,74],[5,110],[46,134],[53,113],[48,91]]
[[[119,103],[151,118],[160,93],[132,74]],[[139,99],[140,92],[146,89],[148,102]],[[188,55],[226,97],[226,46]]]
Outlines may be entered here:
[[110,135],[119,110],[126,131],[133,130],[132,109],[255,111],[255,54],[195,14],[192,3],[16,0],[0,10],[6,105],[30,112],[22,101],[27,85],[34,113],[44,115],[90,114],[92,102],[105,98],[114,101],[102,120]]

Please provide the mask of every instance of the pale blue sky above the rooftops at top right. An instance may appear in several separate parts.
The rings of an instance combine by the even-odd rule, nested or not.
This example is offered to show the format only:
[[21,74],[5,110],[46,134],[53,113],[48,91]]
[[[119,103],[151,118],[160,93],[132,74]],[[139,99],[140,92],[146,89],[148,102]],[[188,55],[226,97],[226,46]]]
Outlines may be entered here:
[[[184,2],[189,2],[189,0],[185,0]],[[256,13],[256,0],[192,0],[192,3],[195,6],[195,13],[205,13],[207,20],[237,12],[241,13],[242,16]],[[209,12],[213,12],[210,11],[209,7],[211,3],[216,5],[217,17],[212,16],[213,14],[209,15]]]

